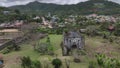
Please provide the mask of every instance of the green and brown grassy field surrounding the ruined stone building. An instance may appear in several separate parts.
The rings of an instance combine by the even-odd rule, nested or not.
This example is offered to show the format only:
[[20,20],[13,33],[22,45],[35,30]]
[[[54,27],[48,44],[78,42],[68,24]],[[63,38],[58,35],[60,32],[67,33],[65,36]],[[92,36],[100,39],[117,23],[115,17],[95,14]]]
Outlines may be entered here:
[[[63,61],[63,66],[65,67],[65,59],[70,61],[70,68],[88,68],[89,61],[95,61],[94,55],[97,52],[104,53],[109,57],[114,57],[120,59],[120,46],[116,43],[109,43],[107,40],[102,39],[101,37],[86,37],[86,45],[85,50],[87,55],[81,56],[81,63],[74,63],[72,56],[62,56],[62,50],[60,47],[60,43],[62,41],[62,35],[49,35],[52,45],[55,48],[55,54],[57,57]],[[41,63],[48,63],[49,68],[53,68],[51,65],[52,59],[56,58],[56,56],[49,55],[40,55],[38,52],[34,51],[32,44],[36,42],[46,42],[46,38],[32,41],[26,44],[21,45],[21,50],[17,52],[11,52],[9,54],[4,55],[5,59],[5,67],[4,68],[21,68],[20,67],[20,57],[22,56],[30,56],[33,60],[40,60]]]

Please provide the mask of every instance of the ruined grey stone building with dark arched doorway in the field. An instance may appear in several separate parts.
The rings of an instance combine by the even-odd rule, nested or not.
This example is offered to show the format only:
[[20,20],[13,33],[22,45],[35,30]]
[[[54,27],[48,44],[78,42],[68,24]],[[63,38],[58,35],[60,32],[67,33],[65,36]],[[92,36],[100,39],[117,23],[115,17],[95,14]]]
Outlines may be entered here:
[[68,31],[63,33],[63,41],[61,44],[63,55],[69,55],[72,49],[82,49],[85,45],[84,37],[76,31]]

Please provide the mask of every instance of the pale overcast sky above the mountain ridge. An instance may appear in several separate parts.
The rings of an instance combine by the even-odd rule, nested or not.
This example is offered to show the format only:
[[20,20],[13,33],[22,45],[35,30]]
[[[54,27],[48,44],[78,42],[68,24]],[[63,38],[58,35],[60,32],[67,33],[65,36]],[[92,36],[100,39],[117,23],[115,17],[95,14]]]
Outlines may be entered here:
[[[0,6],[13,6],[13,5],[24,5],[29,2],[36,0],[0,0]],[[43,3],[56,3],[56,4],[77,4],[87,0],[37,0]],[[110,0],[120,4],[120,0]]]

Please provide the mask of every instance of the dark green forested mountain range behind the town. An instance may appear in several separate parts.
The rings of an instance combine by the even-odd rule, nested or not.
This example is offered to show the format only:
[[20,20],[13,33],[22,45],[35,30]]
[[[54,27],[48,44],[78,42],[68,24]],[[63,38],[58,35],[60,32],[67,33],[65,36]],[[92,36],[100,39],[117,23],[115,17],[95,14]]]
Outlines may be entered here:
[[27,5],[18,5],[9,7],[10,9],[18,9],[24,13],[46,14],[120,14],[120,5],[107,0],[89,0],[76,5],[57,5],[51,3],[40,3],[38,1],[31,2]]

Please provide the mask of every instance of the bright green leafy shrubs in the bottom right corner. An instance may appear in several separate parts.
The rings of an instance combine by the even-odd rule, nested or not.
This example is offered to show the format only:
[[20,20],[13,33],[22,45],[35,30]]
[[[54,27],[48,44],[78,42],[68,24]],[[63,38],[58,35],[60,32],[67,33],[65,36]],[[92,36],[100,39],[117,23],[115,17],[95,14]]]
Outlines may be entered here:
[[98,65],[102,68],[120,68],[120,60],[106,57],[104,54],[96,55]]

